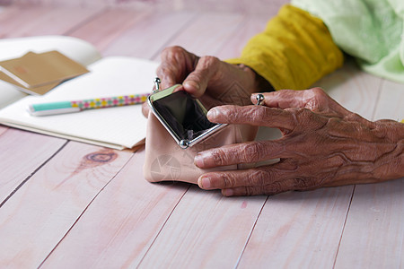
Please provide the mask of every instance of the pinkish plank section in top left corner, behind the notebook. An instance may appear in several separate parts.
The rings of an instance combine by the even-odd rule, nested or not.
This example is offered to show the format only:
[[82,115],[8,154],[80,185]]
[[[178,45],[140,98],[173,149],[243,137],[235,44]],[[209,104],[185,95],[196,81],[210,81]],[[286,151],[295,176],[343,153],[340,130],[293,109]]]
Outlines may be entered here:
[[[13,10],[15,7],[13,7]],[[2,38],[21,38],[38,35],[63,34],[88,18],[100,12],[100,9],[54,8],[42,6],[18,7],[18,15],[4,15],[0,29]],[[1,14],[0,14],[1,16]],[[0,21],[3,21],[0,19]]]

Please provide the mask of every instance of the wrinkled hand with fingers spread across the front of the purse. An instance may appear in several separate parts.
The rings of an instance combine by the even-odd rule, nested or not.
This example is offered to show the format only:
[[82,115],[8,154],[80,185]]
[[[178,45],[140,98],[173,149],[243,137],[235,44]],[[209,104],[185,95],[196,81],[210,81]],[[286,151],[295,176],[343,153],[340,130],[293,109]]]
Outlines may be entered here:
[[[280,158],[255,169],[209,172],[204,189],[223,195],[275,195],[290,190],[373,183],[404,176],[404,124],[371,122],[319,88],[265,93],[264,106],[212,108],[212,122],[276,127],[282,138],[199,152],[199,168]],[[256,102],[255,95],[251,100]]]

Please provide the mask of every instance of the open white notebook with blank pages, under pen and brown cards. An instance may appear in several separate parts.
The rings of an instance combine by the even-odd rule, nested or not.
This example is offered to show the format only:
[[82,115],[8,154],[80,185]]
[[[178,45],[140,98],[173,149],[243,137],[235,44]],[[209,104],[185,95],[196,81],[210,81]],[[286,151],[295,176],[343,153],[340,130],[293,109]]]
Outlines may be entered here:
[[90,109],[78,113],[34,117],[32,103],[84,100],[147,93],[152,90],[157,63],[127,56],[101,57],[81,39],[47,36],[0,40],[0,60],[57,50],[86,65],[90,73],[63,82],[42,96],[29,96],[0,81],[0,124],[41,134],[93,143],[114,149],[132,148],[144,142],[146,119],[141,105]]

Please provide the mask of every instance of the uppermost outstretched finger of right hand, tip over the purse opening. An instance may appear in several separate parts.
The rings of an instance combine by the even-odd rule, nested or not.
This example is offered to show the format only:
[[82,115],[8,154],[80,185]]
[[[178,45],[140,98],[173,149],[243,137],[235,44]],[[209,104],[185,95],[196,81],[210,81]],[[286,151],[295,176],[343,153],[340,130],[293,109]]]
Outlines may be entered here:
[[223,124],[267,126],[287,130],[293,130],[295,126],[291,112],[262,106],[220,106],[211,108],[206,116],[211,122]]

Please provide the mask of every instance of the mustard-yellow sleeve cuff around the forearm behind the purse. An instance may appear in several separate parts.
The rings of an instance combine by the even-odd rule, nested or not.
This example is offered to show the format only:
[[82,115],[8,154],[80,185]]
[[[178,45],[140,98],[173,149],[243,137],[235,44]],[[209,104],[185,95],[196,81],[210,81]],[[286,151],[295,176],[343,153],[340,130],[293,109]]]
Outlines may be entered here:
[[324,23],[286,4],[263,32],[250,39],[242,56],[226,62],[250,66],[275,90],[303,90],[336,70],[343,61]]

